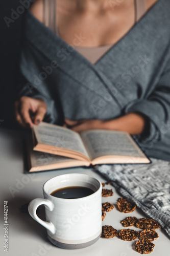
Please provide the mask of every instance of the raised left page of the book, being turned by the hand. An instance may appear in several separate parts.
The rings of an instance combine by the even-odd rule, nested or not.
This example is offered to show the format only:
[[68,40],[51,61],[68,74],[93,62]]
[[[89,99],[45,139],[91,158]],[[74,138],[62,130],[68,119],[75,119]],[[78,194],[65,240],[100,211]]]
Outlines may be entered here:
[[45,122],[34,125],[33,130],[38,143],[76,151],[89,157],[80,135],[74,131]]

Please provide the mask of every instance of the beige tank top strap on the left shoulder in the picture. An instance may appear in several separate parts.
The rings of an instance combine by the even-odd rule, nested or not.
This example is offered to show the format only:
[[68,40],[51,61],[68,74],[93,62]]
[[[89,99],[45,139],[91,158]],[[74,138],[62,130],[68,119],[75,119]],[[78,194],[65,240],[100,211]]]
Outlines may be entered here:
[[57,33],[56,0],[43,0],[43,24]]

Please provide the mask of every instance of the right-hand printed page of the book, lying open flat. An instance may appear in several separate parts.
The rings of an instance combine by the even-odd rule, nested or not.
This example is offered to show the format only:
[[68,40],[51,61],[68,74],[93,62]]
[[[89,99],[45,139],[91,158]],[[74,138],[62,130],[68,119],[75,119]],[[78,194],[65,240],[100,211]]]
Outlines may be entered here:
[[102,156],[145,157],[131,136],[125,132],[90,130],[80,134],[90,159]]

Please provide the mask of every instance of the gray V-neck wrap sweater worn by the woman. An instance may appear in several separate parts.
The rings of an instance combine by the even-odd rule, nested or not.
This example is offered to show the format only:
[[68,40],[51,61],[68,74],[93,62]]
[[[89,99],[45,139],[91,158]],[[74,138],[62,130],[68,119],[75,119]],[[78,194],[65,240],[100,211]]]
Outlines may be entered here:
[[[150,157],[170,156],[170,1],[158,2],[94,65],[26,12],[18,97],[41,97],[45,120],[149,120],[136,140]],[[83,40],[76,35],[77,40]]]

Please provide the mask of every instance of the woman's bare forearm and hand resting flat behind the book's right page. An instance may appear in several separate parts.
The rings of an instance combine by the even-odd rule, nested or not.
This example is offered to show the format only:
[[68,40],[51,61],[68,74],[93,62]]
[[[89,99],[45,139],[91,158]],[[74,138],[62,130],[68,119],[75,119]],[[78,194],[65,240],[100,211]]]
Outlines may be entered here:
[[79,133],[92,129],[104,129],[138,135],[144,131],[146,122],[147,120],[142,115],[129,113],[125,116],[112,120],[82,119],[79,121],[71,121],[65,118],[64,126]]

